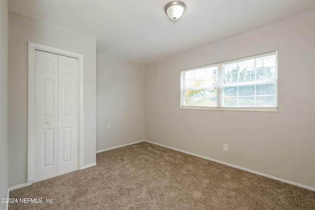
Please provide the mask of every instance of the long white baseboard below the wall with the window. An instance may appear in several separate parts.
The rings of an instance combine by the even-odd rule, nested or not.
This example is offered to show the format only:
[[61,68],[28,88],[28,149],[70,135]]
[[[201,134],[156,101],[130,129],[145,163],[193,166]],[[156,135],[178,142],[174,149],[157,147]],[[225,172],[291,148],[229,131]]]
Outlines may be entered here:
[[223,165],[231,166],[233,168],[241,169],[243,171],[247,171],[247,172],[250,172],[252,174],[257,174],[257,175],[260,175],[260,176],[263,176],[263,177],[267,177],[267,178],[270,178],[270,179],[273,179],[273,180],[282,181],[282,182],[285,182],[285,183],[288,183],[288,184],[292,184],[292,185],[295,185],[295,186],[299,186],[299,187],[303,187],[303,188],[315,191],[315,187],[307,186],[307,185],[300,184],[300,183],[297,183],[297,182],[294,182],[294,181],[290,181],[290,180],[284,180],[282,178],[275,177],[275,176],[272,176],[272,175],[269,175],[269,174],[264,174],[264,173],[261,173],[261,172],[253,171],[251,169],[247,169],[247,168],[243,168],[243,167],[240,167],[240,166],[232,165],[230,163],[225,163],[225,162],[222,162],[220,160],[216,160],[216,159],[205,157],[205,156],[202,156],[202,155],[199,155],[199,154],[194,154],[194,153],[191,153],[191,152],[188,152],[188,151],[184,151],[184,150],[179,150],[179,149],[176,149],[176,148],[168,147],[168,146],[165,146],[165,145],[162,145],[162,144],[158,144],[158,143],[155,143],[155,142],[150,142],[150,141],[147,141],[147,140],[144,140],[144,141],[148,142],[148,143],[151,143],[151,144],[154,144],[154,145],[165,147],[165,148],[168,148],[168,149],[171,149],[171,150],[184,152],[186,154],[190,154],[190,155],[193,155],[193,156],[201,157],[201,158],[206,159],[206,160],[211,160],[213,162],[221,163]]

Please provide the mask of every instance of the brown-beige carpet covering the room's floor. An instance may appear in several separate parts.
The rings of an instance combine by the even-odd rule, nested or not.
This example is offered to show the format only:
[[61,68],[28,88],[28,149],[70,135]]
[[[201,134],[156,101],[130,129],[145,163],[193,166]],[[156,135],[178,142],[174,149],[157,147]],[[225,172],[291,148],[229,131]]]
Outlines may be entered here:
[[97,154],[97,165],[10,192],[9,210],[315,210],[315,192],[153,144]]

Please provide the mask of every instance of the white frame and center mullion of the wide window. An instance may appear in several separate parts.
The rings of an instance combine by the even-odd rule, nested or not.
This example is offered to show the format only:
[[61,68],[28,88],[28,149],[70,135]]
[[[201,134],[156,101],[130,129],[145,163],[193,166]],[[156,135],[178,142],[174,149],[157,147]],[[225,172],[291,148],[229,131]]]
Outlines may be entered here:
[[[277,97],[277,107],[222,107],[222,91],[223,87],[226,87],[223,83],[223,65],[231,62],[237,62],[237,61],[242,61],[242,60],[249,60],[253,58],[259,58],[263,56],[268,56],[268,55],[275,55],[276,57],[276,73],[275,73],[275,79],[271,79],[270,81],[276,81],[276,97]],[[217,85],[217,106],[216,107],[205,107],[205,106],[187,106],[184,105],[185,102],[185,72],[187,71],[192,71],[196,69],[201,69],[201,68],[208,68],[208,67],[213,67],[213,66],[218,66],[218,85]],[[240,59],[234,59],[234,60],[227,60],[223,62],[218,62],[210,65],[204,65],[204,66],[199,66],[199,67],[194,67],[194,68],[189,68],[189,69],[184,69],[181,70],[180,74],[180,85],[181,85],[181,109],[200,109],[200,110],[230,110],[230,111],[264,111],[264,112],[279,112],[278,107],[279,107],[279,95],[278,95],[278,83],[279,83],[279,78],[278,78],[278,51],[272,51],[268,53],[263,53],[263,54],[258,54],[254,56],[249,56],[249,57],[244,57]],[[246,84],[266,84],[266,80],[264,82],[259,82],[259,81],[254,81],[254,82],[245,82],[242,83],[242,85]],[[228,86],[235,86],[235,84],[229,84]],[[239,87],[239,86],[238,86]]]

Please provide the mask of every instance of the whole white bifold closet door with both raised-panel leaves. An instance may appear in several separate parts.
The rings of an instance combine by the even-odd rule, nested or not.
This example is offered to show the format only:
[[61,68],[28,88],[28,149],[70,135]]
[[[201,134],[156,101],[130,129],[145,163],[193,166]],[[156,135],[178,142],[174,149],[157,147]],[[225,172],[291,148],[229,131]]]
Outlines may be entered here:
[[34,182],[78,169],[78,59],[35,50]]

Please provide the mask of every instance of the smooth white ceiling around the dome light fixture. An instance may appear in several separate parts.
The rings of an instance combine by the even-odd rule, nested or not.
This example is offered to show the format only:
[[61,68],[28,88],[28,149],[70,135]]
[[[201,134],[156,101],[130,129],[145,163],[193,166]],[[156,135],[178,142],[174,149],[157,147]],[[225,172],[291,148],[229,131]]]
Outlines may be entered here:
[[315,9],[315,0],[182,0],[174,23],[169,1],[9,0],[9,10],[94,36],[99,53],[148,63]]

